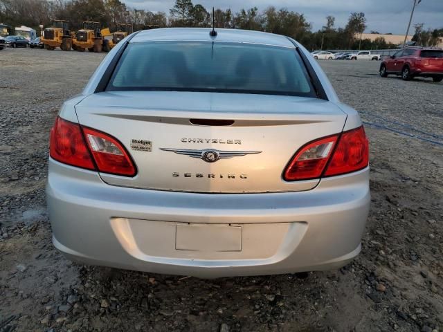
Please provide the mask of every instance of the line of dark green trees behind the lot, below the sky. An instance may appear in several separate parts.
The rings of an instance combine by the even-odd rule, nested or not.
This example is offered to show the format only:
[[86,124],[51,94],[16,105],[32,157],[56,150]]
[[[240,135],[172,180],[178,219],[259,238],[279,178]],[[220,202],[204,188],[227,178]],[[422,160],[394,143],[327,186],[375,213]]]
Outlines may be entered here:
[[[39,30],[39,25],[49,26],[51,19],[71,21],[71,30],[78,30],[82,21],[98,21],[103,27],[113,30],[117,23],[131,23],[134,30],[151,27],[209,27],[212,25],[212,10],[192,0],[176,0],[169,13],[151,12],[128,8],[120,0],[0,0],[0,23],[10,26],[30,26]],[[395,48],[383,37],[374,41],[359,36],[366,28],[363,12],[352,12],[345,27],[336,27],[333,16],[325,17],[325,26],[312,31],[305,15],[299,12],[269,6],[233,12],[230,9],[215,9],[216,28],[240,28],[261,30],[287,35],[307,48],[314,49],[377,49]],[[415,26],[413,40],[422,46],[435,46],[443,37],[443,29],[424,30],[423,24]]]

